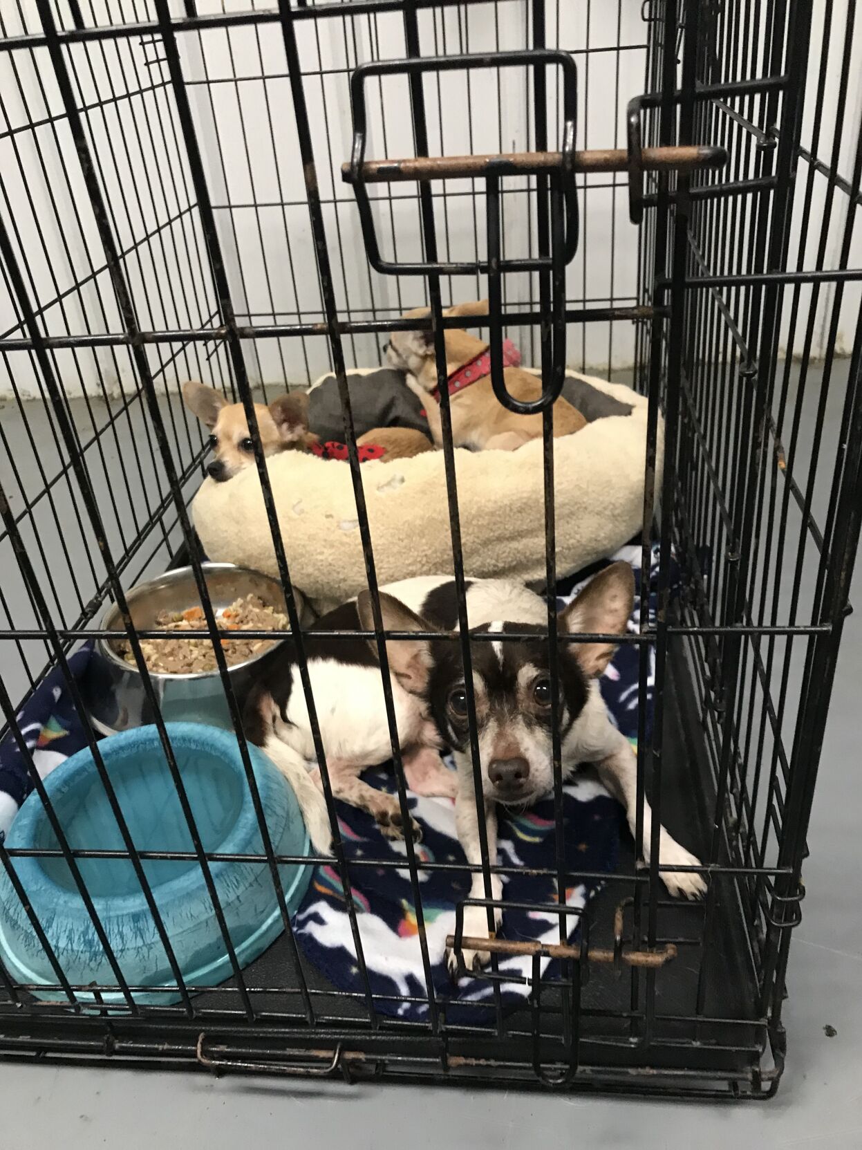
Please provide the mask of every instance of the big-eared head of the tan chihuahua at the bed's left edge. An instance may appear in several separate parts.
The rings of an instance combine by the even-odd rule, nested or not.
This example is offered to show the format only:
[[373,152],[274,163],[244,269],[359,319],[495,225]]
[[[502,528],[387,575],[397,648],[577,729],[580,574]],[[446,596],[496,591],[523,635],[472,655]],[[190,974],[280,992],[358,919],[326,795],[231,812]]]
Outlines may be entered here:
[[[207,474],[217,482],[232,478],[254,462],[254,440],[241,404],[229,404],[214,388],[188,381],[183,384],[186,407],[213,432],[215,459]],[[305,393],[279,396],[269,407],[254,405],[257,434],[264,457],[287,448],[305,448],[313,440],[308,431],[308,397]]]

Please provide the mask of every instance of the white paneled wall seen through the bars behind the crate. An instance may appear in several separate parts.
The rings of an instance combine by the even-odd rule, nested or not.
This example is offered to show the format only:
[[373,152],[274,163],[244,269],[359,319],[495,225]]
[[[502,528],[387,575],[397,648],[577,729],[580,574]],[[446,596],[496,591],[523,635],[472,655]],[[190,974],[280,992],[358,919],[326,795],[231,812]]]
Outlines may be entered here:
[[[846,3],[847,0],[837,0],[833,5],[833,43],[819,148],[826,160],[834,125],[840,55],[837,37],[839,32],[842,34]],[[182,12],[182,5],[174,7],[177,14]],[[198,7],[201,13],[218,12],[223,3],[202,0]],[[245,9],[249,0],[229,0],[224,7]],[[523,47],[528,43],[528,7],[524,0],[501,0],[499,5],[474,5],[467,9],[424,10],[423,53]],[[140,18],[152,17],[152,3],[138,3],[136,13]],[[815,8],[813,57],[816,61],[824,0],[816,0]],[[647,29],[640,10],[640,0],[623,0],[618,6],[548,0],[549,41],[572,51],[578,64],[579,147],[624,144],[625,105],[645,87]],[[22,25],[17,6],[0,5],[7,33],[38,31],[37,17],[29,7],[25,12],[29,24]],[[95,6],[98,22],[117,21],[121,15],[129,18],[128,12],[121,14],[120,0],[100,0]],[[357,62],[405,54],[401,17],[390,14],[305,21],[299,26],[299,39],[339,312],[352,319],[398,314],[424,301],[423,281],[395,281],[369,269],[353,193],[341,183],[339,168],[349,156],[352,140],[348,74]],[[623,45],[625,51],[586,56],[583,49],[587,44],[592,48]],[[321,320],[305,184],[277,26],[184,33],[180,48],[185,75],[194,82],[190,89],[192,105],[240,320],[245,314],[251,316],[249,322],[260,324]],[[855,67],[859,52],[860,44],[855,44],[853,90],[841,133],[840,170],[848,176],[862,99],[862,69]],[[159,62],[162,56],[157,43],[141,43],[137,38],[79,45],[69,54],[80,102],[88,108],[87,129],[113,208],[117,243],[121,251],[129,252],[124,269],[139,322],[144,328],[172,330],[206,327],[216,312],[216,300],[201,254],[199,220],[190,207],[193,194],[170,87],[164,83],[167,69]],[[505,79],[498,85],[494,72],[475,74],[469,90],[464,74],[446,75],[439,90],[436,79],[426,80],[433,153],[510,151],[531,145],[524,71],[510,69],[501,75]],[[243,78],[234,83],[234,77]],[[810,138],[815,84],[813,63],[803,141]],[[46,51],[0,54],[0,93],[6,121],[3,125],[0,117],[3,185],[0,212],[16,229],[14,238],[26,267],[32,297],[49,305],[44,314],[45,330],[49,335],[122,330],[66,123],[60,118],[36,132],[15,132],[22,125],[62,112]],[[382,85],[382,95],[385,139],[380,91],[374,86],[369,91],[368,155],[413,154],[406,82],[387,80]],[[90,107],[106,100],[109,102],[103,109]],[[559,109],[553,91],[549,103],[551,121],[556,124]],[[805,176],[805,166],[800,166],[800,174]],[[586,190],[580,192],[582,241],[567,278],[570,305],[577,306],[584,299],[595,306],[611,300],[633,302],[638,235],[628,220],[624,177],[616,178],[619,186],[615,189],[608,186],[613,177],[590,177]],[[506,181],[505,186],[513,190],[505,199],[505,251],[509,255],[526,253],[531,235],[528,197],[514,191],[524,185],[513,179]],[[477,251],[484,251],[482,191],[471,189],[469,182],[460,182],[448,183],[446,192],[446,199],[438,201],[437,214],[441,255],[472,258]],[[383,185],[380,193],[385,194]],[[798,237],[805,236],[802,266],[814,266],[816,222],[818,213],[822,216],[824,193],[825,181],[818,176],[808,221],[799,218],[801,194],[798,195],[791,245],[794,263]],[[416,258],[421,244],[416,186],[392,185],[392,202],[382,204],[377,214],[384,251],[392,253],[394,233],[399,258]],[[828,236],[826,267],[837,259],[846,210],[846,197],[839,194]],[[854,248],[851,263],[857,263],[859,258],[860,252]],[[87,277],[79,291],[74,290],[77,282]],[[484,294],[484,285],[476,277],[446,283],[445,290],[452,298]],[[819,293],[815,354],[824,350],[826,305],[833,291],[824,288]],[[810,289],[803,289],[803,305],[809,294]],[[51,302],[63,296],[62,301]],[[508,277],[507,302],[518,304],[529,298],[528,277]],[[859,290],[848,289],[837,339],[840,348],[852,343],[857,307]],[[0,331],[14,329],[18,320],[15,306],[0,289]],[[511,335],[529,356],[528,332]],[[370,336],[346,339],[348,362],[378,362],[380,343],[379,337]],[[799,339],[794,351],[799,351]],[[301,383],[330,366],[323,337],[260,339],[249,343],[246,352],[255,381],[280,383],[287,378]],[[223,354],[214,353],[213,345],[190,352],[183,352],[178,345],[164,345],[148,348],[147,355],[159,373],[160,384],[174,385],[187,375],[218,378],[225,371]],[[575,367],[599,371],[625,367],[633,358],[633,329],[628,323],[572,325],[568,355]],[[0,393],[8,393],[13,382],[20,393],[37,393],[29,356],[16,354],[14,362],[9,362],[10,367],[0,367]],[[134,382],[125,350],[100,351],[95,355],[62,352],[57,355],[57,367],[70,394],[80,390],[98,394],[101,389],[114,394]]]

